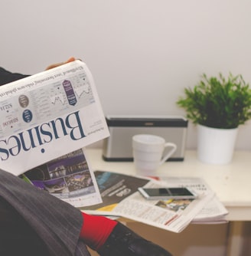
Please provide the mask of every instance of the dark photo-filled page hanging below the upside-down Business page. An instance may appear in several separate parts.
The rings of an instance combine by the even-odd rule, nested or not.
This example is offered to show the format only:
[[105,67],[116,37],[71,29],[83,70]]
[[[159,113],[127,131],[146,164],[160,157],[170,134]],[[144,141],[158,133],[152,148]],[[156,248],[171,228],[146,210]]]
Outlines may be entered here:
[[99,188],[84,152],[77,149],[24,172],[21,177],[75,207],[99,204]]

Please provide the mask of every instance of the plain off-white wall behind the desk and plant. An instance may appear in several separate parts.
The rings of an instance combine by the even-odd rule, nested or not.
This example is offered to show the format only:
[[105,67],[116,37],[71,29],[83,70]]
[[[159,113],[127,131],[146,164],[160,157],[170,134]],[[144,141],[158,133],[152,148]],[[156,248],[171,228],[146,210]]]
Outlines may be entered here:
[[[202,73],[251,84],[249,0],[2,0],[0,66],[34,74],[81,58],[106,114],[184,114],[175,102]],[[251,149],[251,123],[236,147]],[[187,147],[196,146],[189,127]]]

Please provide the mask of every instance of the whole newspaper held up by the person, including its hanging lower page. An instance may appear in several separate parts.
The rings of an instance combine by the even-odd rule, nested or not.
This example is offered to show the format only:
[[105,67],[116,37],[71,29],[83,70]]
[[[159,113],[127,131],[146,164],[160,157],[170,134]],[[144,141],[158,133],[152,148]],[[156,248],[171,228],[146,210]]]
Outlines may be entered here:
[[102,202],[84,147],[109,130],[86,64],[5,84],[0,115],[1,169],[77,207]]

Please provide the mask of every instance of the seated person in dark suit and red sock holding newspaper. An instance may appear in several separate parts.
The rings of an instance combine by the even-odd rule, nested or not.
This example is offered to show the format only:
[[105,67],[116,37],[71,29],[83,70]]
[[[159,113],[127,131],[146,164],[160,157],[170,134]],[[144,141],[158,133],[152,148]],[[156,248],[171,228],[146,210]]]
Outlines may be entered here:
[[[71,57],[47,69],[74,60]],[[0,85],[27,76],[0,67]],[[90,255],[86,245],[101,256],[171,256],[164,248],[145,240],[125,225],[80,212],[0,169],[1,255]]]

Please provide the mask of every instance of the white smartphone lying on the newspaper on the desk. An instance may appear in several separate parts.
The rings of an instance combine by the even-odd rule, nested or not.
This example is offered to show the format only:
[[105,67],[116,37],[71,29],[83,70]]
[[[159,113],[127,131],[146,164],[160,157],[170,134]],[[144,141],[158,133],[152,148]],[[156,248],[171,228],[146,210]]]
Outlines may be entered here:
[[186,187],[179,188],[138,188],[139,192],[148,200],[158,199],[196,199],[197,195]]

